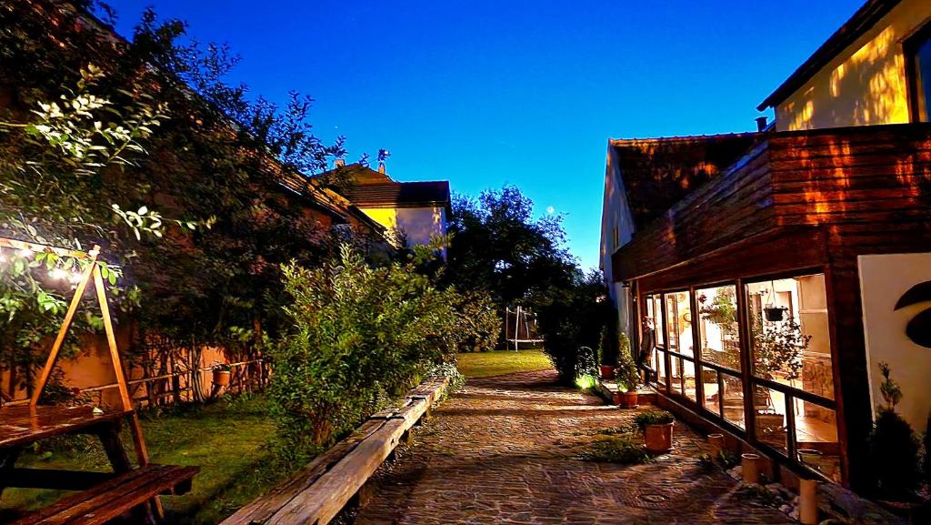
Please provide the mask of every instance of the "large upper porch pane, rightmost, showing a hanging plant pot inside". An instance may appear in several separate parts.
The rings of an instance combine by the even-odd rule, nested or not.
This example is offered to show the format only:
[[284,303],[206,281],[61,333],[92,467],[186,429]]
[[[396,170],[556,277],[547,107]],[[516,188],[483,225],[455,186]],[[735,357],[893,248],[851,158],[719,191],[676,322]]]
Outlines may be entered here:
[[747,284],[753,373],[833,399],[824,274]]

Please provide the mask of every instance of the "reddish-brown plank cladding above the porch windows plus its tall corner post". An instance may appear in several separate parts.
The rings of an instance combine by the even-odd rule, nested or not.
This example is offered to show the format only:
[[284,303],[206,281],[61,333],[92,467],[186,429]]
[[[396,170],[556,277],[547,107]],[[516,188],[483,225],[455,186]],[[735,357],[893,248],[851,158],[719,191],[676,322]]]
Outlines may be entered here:
[[839,439],[857,489],[872,425],[857,256],[928,251],[931,124],[914,123],[771,133],[636,232],[612,263],[638,302],[689,285],[824,272]]

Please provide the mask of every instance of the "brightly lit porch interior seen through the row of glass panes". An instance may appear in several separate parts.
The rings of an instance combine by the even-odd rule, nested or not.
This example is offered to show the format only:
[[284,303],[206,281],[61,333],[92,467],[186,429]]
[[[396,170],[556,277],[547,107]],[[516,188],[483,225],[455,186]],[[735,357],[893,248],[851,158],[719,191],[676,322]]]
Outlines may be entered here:
[[738,434],[753,425],[758,445],[841,481],[824,274],[693,287],[643,304],[643,340],[653,345],[644,366],[657,388]]

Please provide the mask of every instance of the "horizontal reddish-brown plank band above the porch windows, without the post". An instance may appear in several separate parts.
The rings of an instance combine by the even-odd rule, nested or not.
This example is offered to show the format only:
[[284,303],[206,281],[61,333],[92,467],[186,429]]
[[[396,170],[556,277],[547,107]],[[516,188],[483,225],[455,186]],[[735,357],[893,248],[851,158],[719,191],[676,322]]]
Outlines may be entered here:
[[614,253],[614,276],[636,279],[785,227],[830,228],[860,253],[914,251],[914,235],[931,230],[929,209],[929,124],[773,133],[637,231]]

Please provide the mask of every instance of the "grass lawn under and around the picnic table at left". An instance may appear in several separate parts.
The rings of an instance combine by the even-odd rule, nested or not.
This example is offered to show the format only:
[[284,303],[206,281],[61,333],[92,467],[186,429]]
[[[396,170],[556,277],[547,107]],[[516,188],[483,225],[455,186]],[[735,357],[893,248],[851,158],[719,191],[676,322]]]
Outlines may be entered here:
[[[153,463],[199,465],[194,489],[184,496],[164,496],[169,523],[215,524],[236,508],[288,477],[300,465],[281,464],[265,447],[275,429],[263,397],[242,397],[199,408],[177,408],[142,420]],[[132,440],[124,438],[131,452]],[[85,449],[48,454],[27,453],[21,466],[109,470],[99,442]],[[64,492],[7,489],[0,499],[0,522],[23,511],[51,504]]]

